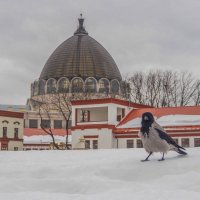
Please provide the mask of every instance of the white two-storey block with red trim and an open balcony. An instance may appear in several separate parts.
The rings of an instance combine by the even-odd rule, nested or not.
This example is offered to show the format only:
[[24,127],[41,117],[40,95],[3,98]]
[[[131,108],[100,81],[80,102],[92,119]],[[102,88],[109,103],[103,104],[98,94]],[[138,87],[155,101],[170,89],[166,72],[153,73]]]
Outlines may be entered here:
[[72,148],[117,148],[116,125],[130,110],[139,108],[149,106],[113,98],[72,102]]

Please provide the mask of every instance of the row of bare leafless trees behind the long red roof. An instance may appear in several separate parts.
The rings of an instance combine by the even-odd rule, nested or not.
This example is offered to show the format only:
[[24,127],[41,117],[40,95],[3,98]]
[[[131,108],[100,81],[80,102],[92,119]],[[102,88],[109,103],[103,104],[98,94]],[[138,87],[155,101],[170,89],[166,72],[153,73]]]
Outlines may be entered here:
[[130,100],[154,107],[200,105],[200,80],[188,72],[151,70],[126,78]]

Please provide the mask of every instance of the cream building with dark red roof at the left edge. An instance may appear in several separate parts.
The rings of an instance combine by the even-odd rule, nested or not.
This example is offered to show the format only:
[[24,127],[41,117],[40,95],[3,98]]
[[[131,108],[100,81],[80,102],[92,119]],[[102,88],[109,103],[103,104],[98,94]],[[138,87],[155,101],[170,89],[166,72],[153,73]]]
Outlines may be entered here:
[[0,150],[23,150],[24,114],[0,110]]

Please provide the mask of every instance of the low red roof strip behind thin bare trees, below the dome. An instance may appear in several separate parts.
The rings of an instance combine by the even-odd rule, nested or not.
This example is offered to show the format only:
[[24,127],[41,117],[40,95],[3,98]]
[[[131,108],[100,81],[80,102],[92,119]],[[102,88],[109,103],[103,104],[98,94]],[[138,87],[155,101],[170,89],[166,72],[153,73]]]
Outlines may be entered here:
[[[66,136],[65,129],[52,129],[54,135]],[[33,135],[47,135],[42,129],[39,128],[24,128],[24,136],[33,136]],[[69,135],[71,135],[71,130],[69,130]]]

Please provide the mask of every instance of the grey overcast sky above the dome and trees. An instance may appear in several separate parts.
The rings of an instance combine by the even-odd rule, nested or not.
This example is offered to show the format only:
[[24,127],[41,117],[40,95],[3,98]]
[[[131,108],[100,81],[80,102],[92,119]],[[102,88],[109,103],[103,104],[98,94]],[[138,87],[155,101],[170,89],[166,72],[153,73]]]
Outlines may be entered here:
[[200,75],[199,0],[0,0],[0,104],[26,103],[80,13],[122,75],[150,68]]

